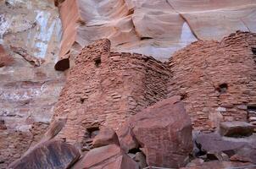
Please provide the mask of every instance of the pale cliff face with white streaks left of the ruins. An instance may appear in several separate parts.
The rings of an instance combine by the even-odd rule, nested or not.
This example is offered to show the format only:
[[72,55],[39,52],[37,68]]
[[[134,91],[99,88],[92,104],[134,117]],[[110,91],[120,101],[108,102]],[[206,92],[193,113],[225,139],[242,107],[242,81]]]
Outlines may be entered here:
[[53,68],[60,37],[53,2],[0,1],[0,168],[19,158],[50,123],[64,84],[64,74]]

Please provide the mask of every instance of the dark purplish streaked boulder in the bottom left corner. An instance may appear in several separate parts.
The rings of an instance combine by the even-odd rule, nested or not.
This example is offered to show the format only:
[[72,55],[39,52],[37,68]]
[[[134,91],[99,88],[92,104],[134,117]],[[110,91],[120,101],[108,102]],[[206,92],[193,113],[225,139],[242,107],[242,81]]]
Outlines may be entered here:
[[49,140],[36,146],[30,153],[15,161],[11,169],[64,169],[78,161],[80,153],[71,144],[59,140]]

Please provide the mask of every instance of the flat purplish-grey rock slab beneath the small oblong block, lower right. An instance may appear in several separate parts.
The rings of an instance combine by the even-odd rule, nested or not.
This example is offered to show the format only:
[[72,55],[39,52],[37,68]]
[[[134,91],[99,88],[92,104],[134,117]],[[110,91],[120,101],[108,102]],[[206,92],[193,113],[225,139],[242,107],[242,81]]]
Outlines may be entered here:
[[196,156],[205,161],[240,161],[256,164],[255,134],[243,138],[221,137],[220,134],[199,134],[195,142],[200,150]]

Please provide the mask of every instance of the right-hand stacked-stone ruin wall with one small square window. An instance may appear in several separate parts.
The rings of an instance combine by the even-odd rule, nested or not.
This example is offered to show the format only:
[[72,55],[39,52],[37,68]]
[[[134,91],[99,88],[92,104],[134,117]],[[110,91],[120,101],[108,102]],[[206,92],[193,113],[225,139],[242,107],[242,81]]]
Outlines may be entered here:
[[170,59],[169,95],[183,95],[194,128],[248,120],[248,106],[256,104],[255,46],[256,34],[238,31],[220,42],[194,42]]

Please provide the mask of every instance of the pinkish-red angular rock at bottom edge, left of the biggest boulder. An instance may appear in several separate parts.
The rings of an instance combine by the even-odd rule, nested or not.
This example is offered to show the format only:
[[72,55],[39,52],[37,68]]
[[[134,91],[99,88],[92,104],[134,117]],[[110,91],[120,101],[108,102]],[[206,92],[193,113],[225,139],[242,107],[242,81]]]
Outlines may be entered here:
[[116,144],[90,150],[73,169],[138,169],[135,161]]

